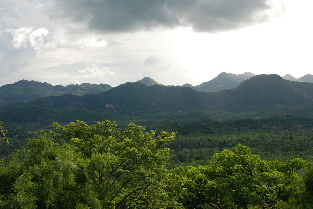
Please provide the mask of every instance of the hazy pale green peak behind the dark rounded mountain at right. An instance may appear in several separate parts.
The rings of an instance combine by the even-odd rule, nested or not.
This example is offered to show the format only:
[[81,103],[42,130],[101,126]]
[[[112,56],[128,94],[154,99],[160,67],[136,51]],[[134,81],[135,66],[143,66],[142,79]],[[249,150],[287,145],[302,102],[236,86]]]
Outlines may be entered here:
[[183,87],[189,87],[202,92],[219,92],[221,90],[235,88],[239,83],[253,76],[255,76],[255,74],[250,72],[239,75],[222,72],[212,80],[203,82],[200,85],[192,86],[190,84],[184,84]]

